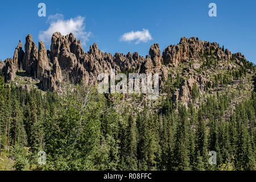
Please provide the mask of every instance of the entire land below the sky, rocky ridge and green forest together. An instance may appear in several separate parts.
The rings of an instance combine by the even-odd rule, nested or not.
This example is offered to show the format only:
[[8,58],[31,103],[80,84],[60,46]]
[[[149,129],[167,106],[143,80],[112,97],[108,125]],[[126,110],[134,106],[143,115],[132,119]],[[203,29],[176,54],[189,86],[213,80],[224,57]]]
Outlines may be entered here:
[[[198,38],[146,57],[85,53],[72,34],[51,51],[26,40],[1,63],[0,170],[256,169],[255,65],[241,53]],[[98,93],[110,68],[159,73],[158,99]]]

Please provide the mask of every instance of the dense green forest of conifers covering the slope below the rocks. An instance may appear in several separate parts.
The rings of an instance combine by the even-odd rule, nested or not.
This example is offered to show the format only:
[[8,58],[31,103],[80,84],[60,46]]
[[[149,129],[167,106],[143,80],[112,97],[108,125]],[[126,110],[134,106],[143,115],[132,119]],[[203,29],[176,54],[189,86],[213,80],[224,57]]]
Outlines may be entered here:
[[[232,74],[216,75],[213,84],[227,84]],[[182,81],[179,73],[169,77],[168,89]],[[217,92],[186,108],[174,104],[170,92],[157,108],[144,102],[138,111],[115,105],[120,95],[98,94],[94,87],[66,84],[63,90],[27,92],[0,77],[0,145],[11,151],[14,169],[256,169],[255,92],[228,113],[235,93]],[[197,84],[191,94],[199,98]],[[38,164],[39,151],[47,154],[45,165]],[[217,153],[216,166],[208,163],[209,151]]]

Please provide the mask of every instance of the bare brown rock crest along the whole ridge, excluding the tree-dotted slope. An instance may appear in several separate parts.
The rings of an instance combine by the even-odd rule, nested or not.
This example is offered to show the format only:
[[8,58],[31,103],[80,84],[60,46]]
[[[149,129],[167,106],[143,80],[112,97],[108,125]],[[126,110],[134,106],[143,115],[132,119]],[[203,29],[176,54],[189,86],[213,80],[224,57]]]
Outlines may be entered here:
[[[19,41],[15,49],[13,59],[6,59],[1,63],[0,68],[5,76],[5,81],[14,81],[17,71],[26,71],[30,76],[40,80],[40,88],[43,90],[59,90],[59,84],[63,81],[86,84],[93,84],[100,73],[110,74],[110,69],[115,72],[125,72],[133,70],[137,73],[159,73],[160,84],[164,78],[168,78],[168,72],[182,63],[189,63],[196,60],[193,69],[197,70],[201,66],[200,59],[204,54],[211,54],[212,57],[220,61],[234,60],[242,65],[241,60],[245,57],[241,53],[232,54],[228,49],[221,48],[217,43],[200,41],[199,38],[181,38],[180,43],[168,46],[163,53],[159,49],[159,44],[150,47],[150,56],[140,56],[138,52],[110,53],[101,52],[96,43],[90,46],[89,52],[85,52],[81,47],[80,40],[74,38],[73,34],[66,36],[55,32],[51,40],[51,50],[46,50],[44,43],[39,42],[39,47],[32,40],[31,35],[27,35],[24,51],[22,43]],[[232,66],[232,65],[230,65]],[[188,68],[187,72],[191,73]],[[199,85],[201,90],[208,81],[205,73],[197,75],[190,74],[184,78],[180,88],[175,90],[174,100],[187,102],[191,97],[193,84]]]

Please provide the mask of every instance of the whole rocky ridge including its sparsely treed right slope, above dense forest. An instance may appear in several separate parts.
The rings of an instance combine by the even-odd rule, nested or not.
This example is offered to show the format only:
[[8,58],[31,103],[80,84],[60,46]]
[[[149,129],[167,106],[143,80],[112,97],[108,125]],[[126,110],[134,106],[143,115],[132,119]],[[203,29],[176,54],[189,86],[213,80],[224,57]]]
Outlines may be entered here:
[[[47,50],[43,42],[37,47],[32,36],[27,35],[24,51],[19,41],[13,58],[0,63],[6,82],[14,81],[24,89],[32,82],[50,91],[61,91],[59,85],[66,80],[93,84],[98,74],[109,75],[112,68],[117,73],[159,73],[162,96],[171,93],[173,101],[183,101],[187,106],[199,96],[221,90],[232,92],[240,86],[249,93],[255,75],[255,66],[241,53],[232,54],[218,43],[194,37],[181,38],[179,44],[168,46],[163,53],[159,44],[153,44],[149,55],[143,57],[138,52],[113,56],[101,52],[96,43],[85,52],[72,33],[63,36],[59,32],[53,34],[51,50]],[[27,82],[17,83],[22,75]]]

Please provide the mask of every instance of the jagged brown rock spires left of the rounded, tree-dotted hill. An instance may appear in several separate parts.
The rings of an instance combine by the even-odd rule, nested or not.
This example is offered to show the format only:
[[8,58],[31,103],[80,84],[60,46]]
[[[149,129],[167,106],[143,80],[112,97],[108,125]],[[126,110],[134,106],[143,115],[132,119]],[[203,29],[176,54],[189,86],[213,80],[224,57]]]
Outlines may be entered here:
[[[73,34],[66,36],[55,32],[52,36],[51,50],[47,51],[43,42],[39,42],[39,48],[32,40],[32,36],[26,37],[25,52],[22,43],[19,42],[15,49],[13,59],[6,59],[2,68],[6,82],[14,80],[16,71],[27,71],[41,81],[43,90],[57,90],[58,84],[69,79],[75,84],[80,81],[94,82],[98,74],[110,74],[110,69],[118,72],[134,70],[136,72],[154,71],[154,67],[161,67],[162,56],[158,44],[150,48],[152,60],[147,60],[138,52],[110,53],[101,52],[96,43],[90,46],[86,53],[81,47],[80,40],[74,38]],[[146,63],[147,62],[147,63]],[[162,71],[162,69],[160,69]],[[162,74],[162,73],[160,73]]]

